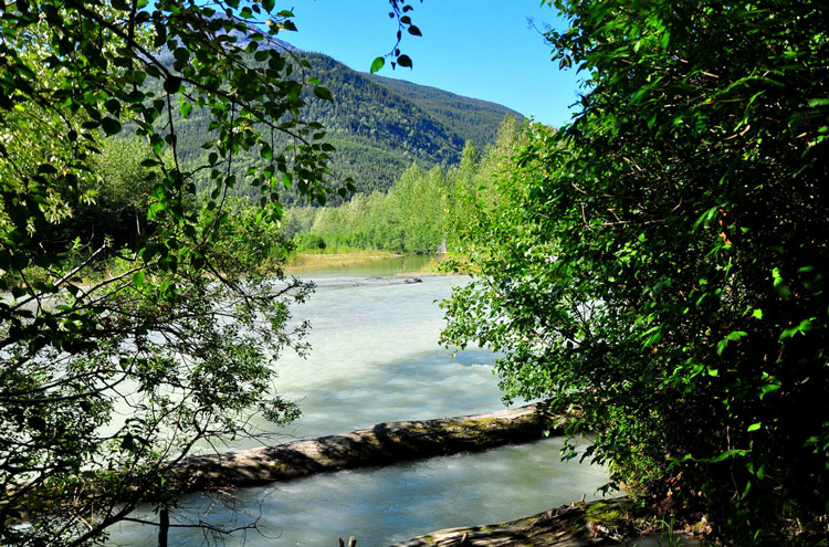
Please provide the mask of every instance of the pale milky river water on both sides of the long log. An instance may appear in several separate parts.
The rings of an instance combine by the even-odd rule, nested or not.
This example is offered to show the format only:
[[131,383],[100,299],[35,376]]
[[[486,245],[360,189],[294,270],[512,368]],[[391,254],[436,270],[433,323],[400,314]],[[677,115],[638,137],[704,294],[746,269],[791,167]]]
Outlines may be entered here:
[[[294,306],[312,324],[306,359],[285,355],[275,364],[280,387],[298,400],[303,417],[259,443],[345,433],[379,422],[473,414],[503,407],[495,356],[471,348],[452,358],[438,345],[443,325],[438,302],[461,276],[391,277],[419,266],[395,259],[303,275],[316,293]],[[523,401],[516,401],[523,403]],[[252,448],[255,441],[228,450]],[[563,463],[560,438],[311,476],[242,488],[224,503],[197,493],[180,499],[174,524],[200,520],[222,527],[256,522],[225,545],[325,546],[356,536],[358,546],[386,546],[440,528],[497,523],[581,499],[598,498],[607,475],[576,461]],[[241,512],[241,513],[240,513]],[[151,512],[141,515],[155,520]],[[170,529],[170,546],[212,544],[197,528]],[[124,523],[109,545],[154,547],[155,527]]]

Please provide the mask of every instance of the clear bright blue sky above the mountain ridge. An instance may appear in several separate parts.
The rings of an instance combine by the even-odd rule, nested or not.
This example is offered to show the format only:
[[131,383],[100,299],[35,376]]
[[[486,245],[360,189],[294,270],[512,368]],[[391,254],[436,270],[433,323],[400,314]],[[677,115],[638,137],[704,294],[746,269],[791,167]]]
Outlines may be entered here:
[[[280,33],[295,46],[325,53],[368,71],[395,44],[397,21],[388,0],[293,0],[298,32]],[[541,0],[412,0],[412,22],[422,38],[405,35],[401,50],[413,69],[380,74],[493,101],[545,124],[560,126],[576,102],[575,71],[559,71],[550,50],[527,23],[563,28]],[[279,3],[277,3],[279,4]]]

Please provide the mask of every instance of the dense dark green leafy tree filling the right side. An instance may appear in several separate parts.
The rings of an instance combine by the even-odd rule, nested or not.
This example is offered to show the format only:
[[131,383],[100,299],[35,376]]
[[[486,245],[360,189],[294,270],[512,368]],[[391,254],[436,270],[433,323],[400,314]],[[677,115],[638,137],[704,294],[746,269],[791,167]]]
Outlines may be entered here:
[[576,411],[617,485],[797,543],[829,513],[827,8],[554,3],[581,111],[478,207],[444,340]]

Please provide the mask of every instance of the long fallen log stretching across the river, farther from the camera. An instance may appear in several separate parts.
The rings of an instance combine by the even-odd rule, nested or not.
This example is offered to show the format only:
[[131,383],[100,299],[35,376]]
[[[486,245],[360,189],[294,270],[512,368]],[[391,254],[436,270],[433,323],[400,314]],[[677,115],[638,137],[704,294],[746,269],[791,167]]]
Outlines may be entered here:
[[319,472],[534,441],[560,433],[566,421],[539,402],[485,414],[378,423],[342,435],[188,457],[172,470],[171,480],[182,492],[290,481]]

